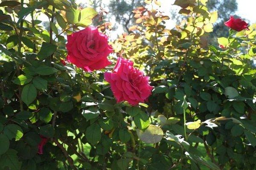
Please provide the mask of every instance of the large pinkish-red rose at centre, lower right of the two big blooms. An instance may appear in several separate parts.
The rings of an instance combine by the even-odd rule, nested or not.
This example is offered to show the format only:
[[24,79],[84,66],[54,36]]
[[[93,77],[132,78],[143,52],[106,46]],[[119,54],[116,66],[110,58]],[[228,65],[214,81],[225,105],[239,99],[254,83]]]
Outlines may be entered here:
[[133,67],[133,62],[119,57],[112,73],[104,74],[110,83],[111,90],[117,102],[127,101],[131,105],[144,102],[151,94],[152,86],[148,83],[148,76]]

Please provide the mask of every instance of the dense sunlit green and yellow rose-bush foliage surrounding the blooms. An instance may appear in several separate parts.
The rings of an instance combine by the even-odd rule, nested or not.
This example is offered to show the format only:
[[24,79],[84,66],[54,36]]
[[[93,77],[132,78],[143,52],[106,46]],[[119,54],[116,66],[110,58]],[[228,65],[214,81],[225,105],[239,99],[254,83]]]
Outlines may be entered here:
[[[256,25],[230,29],[219,48],[208,44],[218,13],[207,0],[176,0],[186,20],[172,30],[151,3],[160,6],[145,0],[131,34],[109,42],[112,64],[92,72],[67,62],[66,43],[93,8],[0,3],[0,170],[256,169]],[[145,103],[116,102],[104,74],[117,57],[149,77]]]

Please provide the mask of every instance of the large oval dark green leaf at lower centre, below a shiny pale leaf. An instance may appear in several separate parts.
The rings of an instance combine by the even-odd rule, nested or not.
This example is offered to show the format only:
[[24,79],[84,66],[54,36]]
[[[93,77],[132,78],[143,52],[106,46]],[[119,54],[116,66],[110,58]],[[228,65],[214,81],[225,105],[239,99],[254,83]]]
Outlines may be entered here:
[[87,127],[85,137],[87,141],[90,142],[92,145],[96,145],[102,137],[102,132],[99,124],[94,123]]

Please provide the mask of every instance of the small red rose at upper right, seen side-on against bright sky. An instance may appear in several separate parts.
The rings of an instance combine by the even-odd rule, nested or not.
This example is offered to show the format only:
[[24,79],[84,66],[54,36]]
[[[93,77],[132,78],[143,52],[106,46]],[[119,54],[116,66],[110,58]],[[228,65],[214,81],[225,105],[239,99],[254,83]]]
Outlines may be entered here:
[[246,23],[244,20],[241,20],[240,18],[234,18],[233,16],[231,16],[230,19],[224,24],[225,26],[236,31],[242,31],[244,29],[249,30],[248,23]]

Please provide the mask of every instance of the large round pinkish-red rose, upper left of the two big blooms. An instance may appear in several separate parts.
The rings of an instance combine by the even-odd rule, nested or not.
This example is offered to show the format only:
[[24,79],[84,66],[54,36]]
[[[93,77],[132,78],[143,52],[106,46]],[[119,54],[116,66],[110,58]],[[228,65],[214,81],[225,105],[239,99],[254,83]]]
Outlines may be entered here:
[[67,61],[84,71],[93,71],[110,65],[108,55],[113,48],[108,37],[95,27],[87,27],[67,36]]

